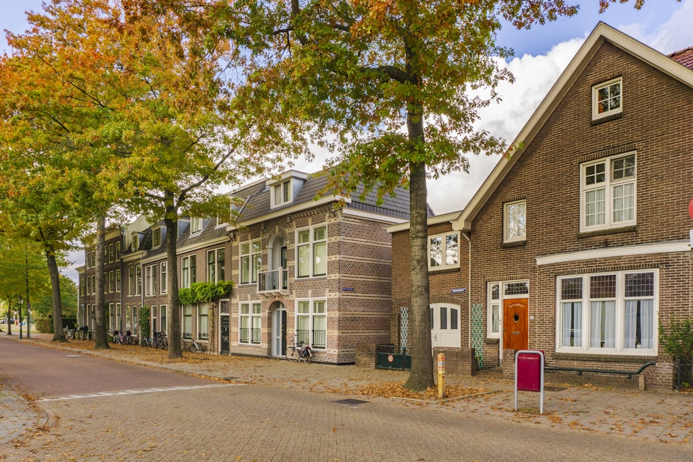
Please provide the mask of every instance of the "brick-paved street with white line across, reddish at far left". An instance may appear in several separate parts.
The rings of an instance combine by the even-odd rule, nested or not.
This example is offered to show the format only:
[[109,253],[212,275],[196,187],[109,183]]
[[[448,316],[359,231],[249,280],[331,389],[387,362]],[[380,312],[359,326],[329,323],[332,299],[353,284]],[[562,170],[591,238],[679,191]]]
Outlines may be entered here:
[[[6,348],[11,344],[17,348]],[[48,414],[49,423],[15,447],[0,448],[0,460],[693,459],[689,445],[538,428],[418,402],[354,402],[354,396],[333,393],[220,384],[19,342],[1,345],[5,384],[19,384],[36,396],[35,406]],[[10,350],[11,360],[5,354]],[[22,367],[27,361],[33,366]],[[82,377],[87,373],[91,377]],[[60,384],[51,387],[51,380]],[[187,380],[194,382],[184,384]]]

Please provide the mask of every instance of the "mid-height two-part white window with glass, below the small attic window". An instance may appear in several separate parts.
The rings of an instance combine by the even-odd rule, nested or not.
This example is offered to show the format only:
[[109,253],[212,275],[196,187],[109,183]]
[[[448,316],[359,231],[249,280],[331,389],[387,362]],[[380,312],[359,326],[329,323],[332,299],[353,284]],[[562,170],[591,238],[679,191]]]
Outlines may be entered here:
[[635,224],[635,152],[582,163],[580,231]]

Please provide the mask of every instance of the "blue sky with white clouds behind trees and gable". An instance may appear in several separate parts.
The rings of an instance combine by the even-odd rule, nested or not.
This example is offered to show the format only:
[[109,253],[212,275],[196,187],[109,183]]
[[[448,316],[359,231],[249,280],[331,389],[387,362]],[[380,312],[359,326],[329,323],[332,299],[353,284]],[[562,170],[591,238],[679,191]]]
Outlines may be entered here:
[[[24,11],[40,11],[41,3],[40,0],[0,0],[0,29],[24,32],[28,27]],[[612,4],[602,15],[599,15],[599,0],[575,3],[580,4],[580,11],[574,17],[530,30],[507,26],[500,31],[498,44],[514,49],[514,57],[506,60],[505,65],[516,81],[512,85],[500,85],[502,102],[484,109],[478,128],[511,143],[599,21],[661,53],[693,46],[693,0],[647,0],[642,10],[635,10],[631,0]],[[0,51],[8,51],[4,33],[0,37]],[[308,173],[320,170],[326,154],[315,154],[313,161],[299,159],[294,168]],[[462,210],[499,159],[472,156],[469,161],[469,173],[455,172],[428,181],[428,202],[437,215]],[[73,259],[77,260],[75,265],[82,265],[78,254]],[[76,278],[73,267],[65,274]]]

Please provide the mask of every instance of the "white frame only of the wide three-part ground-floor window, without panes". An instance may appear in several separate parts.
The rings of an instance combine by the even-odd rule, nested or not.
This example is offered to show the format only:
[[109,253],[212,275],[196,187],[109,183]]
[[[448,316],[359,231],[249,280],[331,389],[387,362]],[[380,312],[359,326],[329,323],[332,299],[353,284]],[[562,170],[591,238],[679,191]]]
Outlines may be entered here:
[[[653,294],[651,296],[638,296],[626,298],[626,275],[632,274],[653,274]],[[613,346],[590,346],[590,301],[600,301],[601,299],[590,299],[590,278],[593,276],[612,276],[616,277],[616,296],[615,299],[608,299],[615,302],[615,325],[614,325],[614,345]],[[582,297],[581,299],[561,300],[561,281],[570,278],[582,278]],[[606,300],[606,299],[605,299]],[[651,300],[651,330],[652,348],[626,348],[625,339],[625,306],[629,300]],[[561,303],[572,301],[581,302],[581,346],[563,346],[561,339],[561,326],[563,325]],[[570,274],[556,278],[556,351],[560,353],[584,353],[588,355],[631,355],[631,356],[653,356],[657,355],[658,350],[658,312],[659,312],[659,271],[658,269],[639,269],[633,271],[589,273],[589,274]]]

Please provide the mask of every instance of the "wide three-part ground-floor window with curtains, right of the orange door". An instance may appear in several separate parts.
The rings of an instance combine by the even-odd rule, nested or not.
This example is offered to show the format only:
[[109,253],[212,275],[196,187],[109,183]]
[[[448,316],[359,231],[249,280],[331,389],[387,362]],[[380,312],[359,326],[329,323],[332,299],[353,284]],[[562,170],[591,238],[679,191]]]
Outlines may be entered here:
[[556,351],[656,355],[656,269],[560,276],[556,299]]

